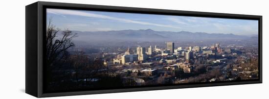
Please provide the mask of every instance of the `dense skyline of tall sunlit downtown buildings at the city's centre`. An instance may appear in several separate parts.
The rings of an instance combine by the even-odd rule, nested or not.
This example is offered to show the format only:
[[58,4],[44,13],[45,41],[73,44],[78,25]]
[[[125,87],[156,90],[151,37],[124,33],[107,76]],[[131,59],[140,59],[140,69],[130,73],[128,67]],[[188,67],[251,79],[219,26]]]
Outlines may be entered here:
[[[186,63],[188,63],[188,60],[193,58],[194,53],[199,54],[212,54],[214,55],[216,52],[218,53],[224,53],[224,51],[231,51],[231,49],[221,49],[220,44],[216,44],[215,46],[211,46],[209,49],[208,47],[187,47],[182,48],[179,47],[175,49],[175,44],[173,42],[166,43],[166,49],[159,49],[157,46],[153,49],[151,46],[148,47],[148,50],[146,51],[145,47],[138,46],[136,48],[136,53],[131,54],[130,49],[128,48],[124,54],[120,54],[117,56],[117,58],[113,59],[113,64],[122,64],[122,65],[129,65],[131,63],[135,62],[146,62],[147,59],[154,57],[155,55],[161,55],[161,56],[184,56],[184,60],[186,60]],[[182,58],[180,58],[182,59]],[[163,61],[163,60],[161,60]],[[160,61],[160,62],[161,62]],[[169,61],[169,60],[166,60]]]

